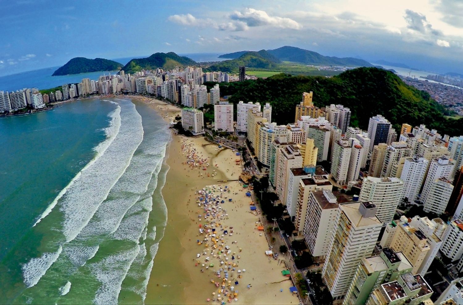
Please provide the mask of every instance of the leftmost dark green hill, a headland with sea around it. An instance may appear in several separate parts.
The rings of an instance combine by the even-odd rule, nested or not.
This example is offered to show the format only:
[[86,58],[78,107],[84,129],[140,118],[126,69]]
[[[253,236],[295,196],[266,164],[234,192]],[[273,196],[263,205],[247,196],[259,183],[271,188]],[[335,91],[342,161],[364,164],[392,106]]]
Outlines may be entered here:
[[119,70],[122,64],[104,58],[89,59],[85,57],[74,57],[69,62],[59,67],[52,76],[78,74],[97,71]]

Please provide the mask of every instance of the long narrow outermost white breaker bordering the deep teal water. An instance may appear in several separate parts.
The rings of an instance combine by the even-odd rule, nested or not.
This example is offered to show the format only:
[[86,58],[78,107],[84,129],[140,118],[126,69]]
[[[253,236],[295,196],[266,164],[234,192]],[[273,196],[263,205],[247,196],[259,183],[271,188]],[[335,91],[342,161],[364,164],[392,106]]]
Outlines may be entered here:
[[69,189],[69,187],[74,184],[75,180],[77,180],[83,171],[85,171],[88,167],[93,165],[106,151],[108,146],[113,142],[114,138],[116,137],[116,134],[119,133],[119,128],[120,128],[120,106],[119,104],[115,103],[117,105],[117,108],[114,109],[110,114],[108,114],[109,117],[111,117],[111,121],[109,123],[109,126],[105,128],[105,133],[106,133],[106,140],[102,141],[100,144],[94,147],[94,150],[97,151],[98,153],[92,159],[90,162],[88,162],[87,165],[85,165],[80,172],[78,172],[74,178],[69,182],[68,185],[66,185],[63,190],[61,190],[56,196],[56,198],[53,200],[52,203],[45,209],[45,211],[42,213],[41,216],[38,217],[37,221],[34,223],[32,227],[35,227],[39,222],[42,221],[46,216],[50,214],[50,212],[53,210],[53,208],[56,206],[56,203],[58,203],[58,200],[63,197],[63,195],[66,193],[66,191]]

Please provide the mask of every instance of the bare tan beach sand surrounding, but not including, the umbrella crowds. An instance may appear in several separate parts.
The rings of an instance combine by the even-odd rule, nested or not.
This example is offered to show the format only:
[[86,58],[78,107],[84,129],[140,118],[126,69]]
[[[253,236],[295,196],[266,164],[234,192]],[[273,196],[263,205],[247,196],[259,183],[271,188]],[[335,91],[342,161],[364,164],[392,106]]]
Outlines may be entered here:
[[[150,105],[168,123],[171,117],[180,113],[180,108],[154,98],[138,95],[127,97]],[[198,156],[207,159],[210,166],[203,170],[202,165],[199,167],[186,165],[187,148],[190,149],[188,152],[193,149]],[[212,270],[203,267],[201,272],[200,264],[196,263],[205,259],[202,256],[197,258],[197,254],[210,249],[205,250],[204,245],[198,245],[196,242],[205,236],[198,230],[200,220],[197,214],[203,207],[196,205],[198,194],[195,192],[206,187],[211,188],[211,185],[217,188],[227,186],[232,191],[230,197],[233,197],[233,202],[226,200],[227,202],[222,204],[227,214],[225,219],[220,220],[220,224],[224,228],[233,228],[234,234],[233,237],[225,236],[223,242],[228,242],[230,249],[236,253],[235,256],[238,251],[241,252],[238,254],[240,258],[233,262],[236,263],[237,268],[246,270],[245,273],[234,274],[235,280],[238,280],[239,276],[240,284],[235,288],[238,295],[233,303],[299,303],[297,297],[289,292],[291,281],[282,276],[283,260],[273,260],[264,254],[264,251],[269,249],[269,245],[265,234],[257,229],[260,224],[259,217],[262,216],[250,211],[250,198],[245,195],[249,189],[244,189],[238,181],[230,181],[238,179],[241,173],[241,165],[235,163],[236,158],[238,157],[232,150],[220,149],[201,137],[188,138],[172,134],[164,159],[169,166],[169,171],[162,189],[168,219],[151,270],[145,304],[220,304],[221,301],[217,298],[219,294],[225,290],[229,293],[230,285],[220,292],[220,287],[218,290],[211,283],[212,280],[222,280],[215,274],[217,267],[211,267]],[[223,180],[227,182],[219,182]],[[201,223],[205,221],[206,219]],[[214,262],[220,263],[220,261]],[[233,280],[233,272],[230,273],[230,280]],[[247,285],[250,287],[247,288]]]

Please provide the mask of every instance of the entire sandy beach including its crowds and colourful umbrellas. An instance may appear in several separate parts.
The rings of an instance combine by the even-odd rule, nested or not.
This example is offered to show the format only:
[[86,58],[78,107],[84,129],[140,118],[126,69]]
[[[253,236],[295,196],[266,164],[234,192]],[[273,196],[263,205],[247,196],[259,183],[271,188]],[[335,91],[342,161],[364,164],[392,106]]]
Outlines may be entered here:
[[[132,98],[152,105],[168,122],[180,113],[155,99]],[[298,304],[281,273],[282,256],[265,255],[269,245],[257,229],[262,216],[250,210],[250,190],[231,181],[241,173],[236,152],[174,135],[166,157],[168,222],[145,303]]]

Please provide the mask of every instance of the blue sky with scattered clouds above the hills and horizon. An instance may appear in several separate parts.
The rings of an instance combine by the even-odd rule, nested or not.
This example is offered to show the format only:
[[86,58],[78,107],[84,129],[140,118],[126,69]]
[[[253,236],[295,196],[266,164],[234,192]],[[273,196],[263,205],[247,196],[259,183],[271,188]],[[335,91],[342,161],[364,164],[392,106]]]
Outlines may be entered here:
[[0,0],[0,10],[0,75],[78,56],[283,45],[463,73],[462,0]]

